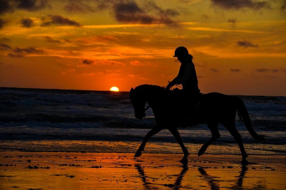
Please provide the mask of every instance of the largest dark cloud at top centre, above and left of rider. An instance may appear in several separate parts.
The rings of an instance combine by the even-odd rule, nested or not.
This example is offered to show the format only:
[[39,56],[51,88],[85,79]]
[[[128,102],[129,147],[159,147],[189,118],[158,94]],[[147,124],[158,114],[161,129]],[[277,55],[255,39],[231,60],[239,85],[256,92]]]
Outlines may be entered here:
[[[153,5],[154,8],[155,5]],[[152,8],[152,7],[151,7]],[[115,19],[123,23],[141,23],[141,24],[174,24],[175,22],[166,14],[175,14],[171,10],[164,10],[164,14],[155,17],[148,15],[143,11],[135,1],[120,1],[113,6]]]

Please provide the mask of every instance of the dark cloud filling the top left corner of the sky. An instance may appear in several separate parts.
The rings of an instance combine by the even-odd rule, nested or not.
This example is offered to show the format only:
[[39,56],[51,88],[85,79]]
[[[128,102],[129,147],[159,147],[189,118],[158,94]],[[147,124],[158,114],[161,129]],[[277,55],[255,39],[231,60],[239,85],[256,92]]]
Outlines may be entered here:
[[0,15],[14,12],[15,9],[38,11],[46,7],[51,8],[47,0],[0,0]]

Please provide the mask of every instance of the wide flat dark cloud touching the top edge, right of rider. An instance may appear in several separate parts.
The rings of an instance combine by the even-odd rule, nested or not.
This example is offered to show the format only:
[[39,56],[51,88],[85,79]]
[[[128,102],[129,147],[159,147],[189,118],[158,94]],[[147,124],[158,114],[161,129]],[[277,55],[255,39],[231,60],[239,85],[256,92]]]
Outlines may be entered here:
[[223,9],[243,9],[250,8],[254,10],[267,8],[270,9],[270,4],[267,1],[253,0],[211,0],[214,6]]

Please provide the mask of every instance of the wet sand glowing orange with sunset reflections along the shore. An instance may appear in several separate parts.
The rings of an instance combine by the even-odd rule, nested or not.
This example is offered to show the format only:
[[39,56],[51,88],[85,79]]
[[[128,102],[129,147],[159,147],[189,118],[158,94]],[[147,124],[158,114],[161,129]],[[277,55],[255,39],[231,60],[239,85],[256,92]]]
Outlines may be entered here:
[[1,152],[0,189],[286,189],[286,156]]

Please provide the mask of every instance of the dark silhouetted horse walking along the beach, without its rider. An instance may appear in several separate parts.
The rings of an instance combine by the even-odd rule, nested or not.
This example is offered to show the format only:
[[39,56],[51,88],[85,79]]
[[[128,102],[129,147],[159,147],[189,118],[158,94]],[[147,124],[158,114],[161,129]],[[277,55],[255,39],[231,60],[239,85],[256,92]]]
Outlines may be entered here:
[[[160,132],[162,129],[167,128],[172,135],[175,137],[177,142],[182,148],[184,157],[180,160],[181,163],[185,164],[188,162],[187,156],[189,152],[185,147],[181,136],[177,130],[177,127],[195,126],[198,124],[206,123],[209,130],[212,133],[212,137],[206,143],[202,145],[198,151],[198,156],[205,153],[206,149],[215,140],[220,138],[220,133],[218,131],[218,124],[222,124],[230,132],[230,134],[236,140],[241,156],[242,164],[247,164],[247,153],[243,147],[243,142],[241,135],[235,127],[235,117],[236,112],[240,120],[242,120],[251,134],[251,136],[258,141],[265,140],[265,137],[257,134],[252,125],[251,120],[248,115],[248,111],[243,103],[243,101],[238,96],[230,96],[217,92],[211,92],[208,94],[200,95],[200,103],[203,102],[202,109],[195,109],[193,107],[191,97],[177,97],[174,96],[175,93],[167,90],[165,87],[157,85],[139,85],[136,88],[131,88],[129,97],[130,103],[133,105],[135,118],[142,119],[146,116],[145,111],[147,108],[151,107],[155,116],[156,124],[153,128],[146,134],[143,142],[139,146],[135,153],[135,157],[142,155],[144,147],[147,141],[156,133]],[[181,95],[180,95],[181,96]],[[170,104],[170,101],[175,99],[178,101],[176,104]],[[149,106],[145,108],[145,103]]]

